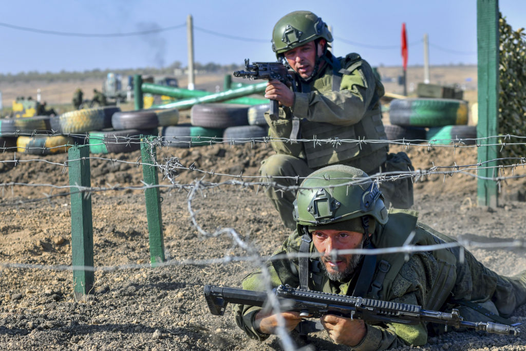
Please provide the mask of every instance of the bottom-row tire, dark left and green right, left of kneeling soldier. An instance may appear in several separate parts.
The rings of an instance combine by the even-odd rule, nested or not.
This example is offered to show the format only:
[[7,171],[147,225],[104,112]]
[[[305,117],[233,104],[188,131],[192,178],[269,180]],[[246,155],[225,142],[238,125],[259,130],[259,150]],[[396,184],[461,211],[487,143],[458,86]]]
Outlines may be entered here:
[[188,148],[213,144],[221,141],[224,129],[205,128],[190,124],[164,127],[161,131],[163,145]]

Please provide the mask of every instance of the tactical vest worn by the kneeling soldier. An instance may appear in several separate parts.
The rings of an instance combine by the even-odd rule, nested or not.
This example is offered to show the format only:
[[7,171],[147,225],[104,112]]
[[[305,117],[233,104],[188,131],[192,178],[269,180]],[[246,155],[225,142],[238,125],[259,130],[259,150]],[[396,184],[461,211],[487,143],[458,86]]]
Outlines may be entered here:
[[[344,74],[351,74],[352,71],[363,65],[363,60],[358,54],[349,54],[344,60],[345,64],[348,65],[347,69],[341,68],[339,58],[332,57],[332,75],[329,74],[330,70],[328,67],[324,77],[325,79],[318,78],[309,85],[302,84],[302,92],[305,93],[305,90],[310,89],[311,86],[321,94],[340,91],[342,76]],[[364,81],[366,81],[365,77]],[[376,98],[379,99],[380,97],[378,96]],[[375,104],[376,102],[371,102],[371,105]],[[302,139],[309,139],[309,142],[303,142],[302,144],[307,165],[312,169],[343,163],[354,158],[366,156],[387,145],[386,143],[338,143],[338,141],[341,140],[358,140],[364,138],[387,140],[379,107],[368,110],[358,123],[351,126],[310,122],[304,119],[300,122],[300,131]],[[335,143],[316,143],[316,139],[333,139]],[[352,161],[346,164],[352,166]]]

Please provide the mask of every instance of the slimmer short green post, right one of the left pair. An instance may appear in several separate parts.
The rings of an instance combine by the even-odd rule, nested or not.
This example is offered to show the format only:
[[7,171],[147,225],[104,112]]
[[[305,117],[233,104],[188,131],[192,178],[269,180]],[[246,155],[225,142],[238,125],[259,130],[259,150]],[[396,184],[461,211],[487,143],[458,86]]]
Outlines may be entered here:
[[[157,167],[154,166],[157,161],[157,151],[155,146],[147,143],[147,141],[152,141],[153,139],[154,137],[151,136],[148,137],[148,139],[141,136],[140,139],[140,154],[143,159],[143,177],[144,183],[147,185],[159,184]],[[144,196],[146,198],[146,216],[148,218],[150,263],[152,267],[155,267],[165,261],[163,215],[161,213],[159,188],[153,187],[145,189]]]

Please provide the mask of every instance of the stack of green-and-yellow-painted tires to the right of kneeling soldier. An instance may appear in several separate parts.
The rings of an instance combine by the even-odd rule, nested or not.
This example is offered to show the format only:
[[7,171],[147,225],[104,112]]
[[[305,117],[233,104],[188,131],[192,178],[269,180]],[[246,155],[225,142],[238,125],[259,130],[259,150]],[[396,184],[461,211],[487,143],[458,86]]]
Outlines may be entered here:
[[430,144],[474,144],[477,127],[467,126],[468,103],[457,99],[395,99],[389,106],[387,138]]

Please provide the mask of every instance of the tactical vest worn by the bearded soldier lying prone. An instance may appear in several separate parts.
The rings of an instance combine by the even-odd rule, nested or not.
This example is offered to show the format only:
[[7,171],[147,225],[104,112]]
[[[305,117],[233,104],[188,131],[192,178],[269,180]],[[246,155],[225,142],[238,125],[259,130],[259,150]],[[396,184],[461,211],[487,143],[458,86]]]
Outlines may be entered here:
[[[406,242],[411,232],[415,232],[412,245],[436,245],[446,242],[454,242],[453,239],[444,236],[430,227],[417,222],[418,212],[403,209],[390,209],[389,222],[376,230],[375,234],[371,236],[371,243],[375,248],[386,247],[401,247]],[[304,242],[307,239],[304,237]],[[313,252],[315,248],[312,243],[310,245],[302,245],[300,252],[310,250]],[[438,263],[438,275],[433,282],[433,286],[427,294],[426,309],[439,310],[446,302],[451,290],[457,279],[456,265],[458,253],[454,253],[451,248],[433,250],[433,257]],[[403,254],[382,254],[382,255],[366,255],[361,272],[359,273],[358,283],[353,292],[347,292],[347,295],[368,297],[373,299],[389,300],[391,299],[392,284],[400,272],[406,259]],[[309,262],[308,262],[309,261]],[[372,267],[375,269],[371,269]],[[298,275],[300,286],[308,288],[305,284],[307,279],[310,280],[311,287],[317,290],[330,292],[328,290],[328,278],[323,275],[323,272],[318,267],[319,260],[299,259]],[[308,268],[306,268],[308,266]],[[371,273],[364,271],[370,270]],[[372,272],[374,272],[372,274]]]

